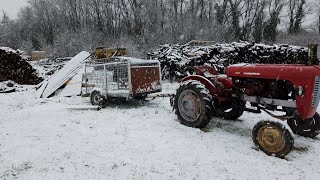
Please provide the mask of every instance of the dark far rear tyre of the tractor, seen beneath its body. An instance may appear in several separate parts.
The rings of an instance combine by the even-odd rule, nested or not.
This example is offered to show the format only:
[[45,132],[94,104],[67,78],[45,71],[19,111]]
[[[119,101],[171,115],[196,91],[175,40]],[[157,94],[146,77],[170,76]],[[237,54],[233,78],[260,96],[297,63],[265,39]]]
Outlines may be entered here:
[[239,101],[227,109],[216,108],[215,115],[227,120],[236,120],[242,116],[244,106],[245,104]]

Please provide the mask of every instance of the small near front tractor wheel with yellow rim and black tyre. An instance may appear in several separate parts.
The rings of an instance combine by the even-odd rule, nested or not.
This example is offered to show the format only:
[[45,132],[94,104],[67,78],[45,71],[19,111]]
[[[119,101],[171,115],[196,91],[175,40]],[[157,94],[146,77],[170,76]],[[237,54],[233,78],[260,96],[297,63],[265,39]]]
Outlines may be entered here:
[[294,140],[280,123],[260,121],[252,130],[253,143],[267,155],[282,158],[293,148]]

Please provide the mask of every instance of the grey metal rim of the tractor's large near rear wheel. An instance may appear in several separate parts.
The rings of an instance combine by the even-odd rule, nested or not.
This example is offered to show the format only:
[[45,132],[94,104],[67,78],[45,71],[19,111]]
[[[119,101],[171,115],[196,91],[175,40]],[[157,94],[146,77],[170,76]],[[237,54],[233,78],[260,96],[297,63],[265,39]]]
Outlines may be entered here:
[[200,117],[201,103],[199,96],[192,90],[185,90],[179,96],[178,108],[181,116],[188,122]]

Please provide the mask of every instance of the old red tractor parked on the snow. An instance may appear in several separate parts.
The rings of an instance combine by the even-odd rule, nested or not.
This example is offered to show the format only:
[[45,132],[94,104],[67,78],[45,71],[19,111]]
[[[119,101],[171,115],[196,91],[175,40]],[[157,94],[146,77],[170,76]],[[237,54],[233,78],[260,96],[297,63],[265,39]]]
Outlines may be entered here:
[[[186,126],[203,128],[213,116],[235,120],[244,111],[264,111],[287,121],[295,134],[314,138],[320,133],[320,66],[238,64],[227,67],[226,75],[202,66],[195,74],[182,80],[174,99],[178,119]],[[276,121],[257,123],[252,136],[268,155],[284,157],[293,148],[290,132]]]

